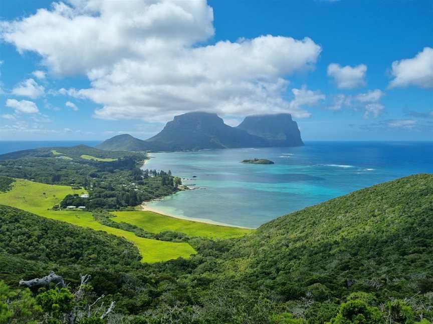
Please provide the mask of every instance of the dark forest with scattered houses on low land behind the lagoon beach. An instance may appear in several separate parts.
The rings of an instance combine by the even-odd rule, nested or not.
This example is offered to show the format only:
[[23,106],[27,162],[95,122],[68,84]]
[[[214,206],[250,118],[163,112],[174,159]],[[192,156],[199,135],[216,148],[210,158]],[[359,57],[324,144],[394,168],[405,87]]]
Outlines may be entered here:
[[[69,153],[73,153],[72,156],[80,154],[76,146],[65,148],[63,151],[68,151],[67,149]],[[49,152],[51,154],[51,150]],[[179,190],[181,180],[171,175],[170,171],[140,168],[143,159],[147,158],[145,154],[129,152],[122,156],[119,155],[121,153],[117,152],[114,156],[118,157],[110,161],[81,158],[69,160],[53,156],[25,156],[0,160],[0,176],[49,184],[65,184],[76,188],[84,187],[88,191],[89,197],[70,195],[65,197],[60,205],[53,206],[54,208],[73,205],[85,206],[88,210],[121,209],[138,205],[142,201],[164,197]]]

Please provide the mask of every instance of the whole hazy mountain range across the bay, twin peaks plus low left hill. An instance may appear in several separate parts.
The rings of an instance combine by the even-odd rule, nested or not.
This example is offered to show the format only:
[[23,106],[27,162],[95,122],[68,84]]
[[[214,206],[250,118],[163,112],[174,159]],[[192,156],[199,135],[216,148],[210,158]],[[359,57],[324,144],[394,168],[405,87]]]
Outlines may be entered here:
[[[298,125],[291,115],[278,116],[249,116],[238,127],[231,127],[216,113],[187,112],[175,116],[149,139],[122,134],[107,139],[97,147],[107,150],[174,151],[303,145]],[[264,125],[260,125],[261,122]],[[273,122],[275,127],[272,127]]]

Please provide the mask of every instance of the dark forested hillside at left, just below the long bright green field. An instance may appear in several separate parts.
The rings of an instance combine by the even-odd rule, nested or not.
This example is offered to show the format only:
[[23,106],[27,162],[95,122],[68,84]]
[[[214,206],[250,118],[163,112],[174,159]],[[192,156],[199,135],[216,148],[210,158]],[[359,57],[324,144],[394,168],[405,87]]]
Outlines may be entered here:
[[113,263],[128,268],[141,259],[125,238],[9,206],[0,205],[0,233],[0,278],[11,283],[52,268],[67,273],[96,271]]

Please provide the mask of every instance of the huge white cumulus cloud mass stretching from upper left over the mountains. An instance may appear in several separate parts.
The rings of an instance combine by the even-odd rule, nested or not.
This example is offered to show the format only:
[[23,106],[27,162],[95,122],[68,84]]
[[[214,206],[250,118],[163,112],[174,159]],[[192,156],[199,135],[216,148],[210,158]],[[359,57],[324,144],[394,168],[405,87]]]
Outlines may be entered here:
[[214,33],[205,0],[56,3],[0,28],[5,41],[38,53],[54,73],[86,74],[89,88],[59,93],[100,104],[97,118],[164,121],[191,110],[310,115],[299,98],[285,98],[287,77],[313,69],[321,46],[273,35],[203,45]]

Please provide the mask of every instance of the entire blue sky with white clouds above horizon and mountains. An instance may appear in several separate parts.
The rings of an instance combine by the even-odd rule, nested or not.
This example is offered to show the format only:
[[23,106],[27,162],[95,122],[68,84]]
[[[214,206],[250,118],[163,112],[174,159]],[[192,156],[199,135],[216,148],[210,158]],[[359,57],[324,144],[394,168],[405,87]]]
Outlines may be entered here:
[[289,112],[304,140],[433,140],[433,1],[0,2],[0,140]]

